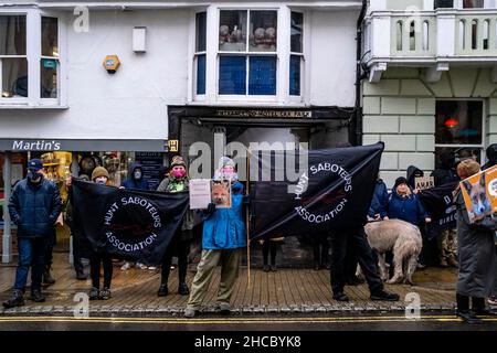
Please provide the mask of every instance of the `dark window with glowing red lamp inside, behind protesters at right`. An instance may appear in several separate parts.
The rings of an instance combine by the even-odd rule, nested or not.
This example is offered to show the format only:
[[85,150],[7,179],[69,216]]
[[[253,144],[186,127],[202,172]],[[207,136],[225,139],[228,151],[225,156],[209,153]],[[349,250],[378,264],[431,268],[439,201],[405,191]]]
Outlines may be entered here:
[[483,101],[438,100],[436,103],[435,153],[452,151],[459,159],[480,160],[483,151]]

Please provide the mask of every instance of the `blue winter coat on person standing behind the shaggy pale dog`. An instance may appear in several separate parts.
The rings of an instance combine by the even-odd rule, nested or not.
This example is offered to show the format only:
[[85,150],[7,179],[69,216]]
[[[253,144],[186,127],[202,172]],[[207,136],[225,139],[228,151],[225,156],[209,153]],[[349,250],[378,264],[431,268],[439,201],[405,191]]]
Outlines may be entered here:
[[388,214],[391,220],[402,220],[416,226],[429,217],[416,194],[411,192],[408,197],[402,197],[396,193],[396,190],[393,190],[389,197]]

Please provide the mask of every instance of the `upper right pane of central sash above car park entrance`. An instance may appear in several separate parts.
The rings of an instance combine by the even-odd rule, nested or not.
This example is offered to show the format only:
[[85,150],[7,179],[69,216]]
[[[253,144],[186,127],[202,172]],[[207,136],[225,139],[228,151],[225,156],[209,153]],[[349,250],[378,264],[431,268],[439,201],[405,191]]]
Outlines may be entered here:
[[276,11],[251,11],[251,52],[275,52],[276,32]]

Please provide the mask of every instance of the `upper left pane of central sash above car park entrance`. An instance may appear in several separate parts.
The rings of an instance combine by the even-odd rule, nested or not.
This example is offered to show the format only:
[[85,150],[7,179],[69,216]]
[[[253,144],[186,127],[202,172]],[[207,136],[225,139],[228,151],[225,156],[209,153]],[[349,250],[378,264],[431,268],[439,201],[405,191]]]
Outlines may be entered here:
[[220,11],[219,50],[246,51],[246,11]]

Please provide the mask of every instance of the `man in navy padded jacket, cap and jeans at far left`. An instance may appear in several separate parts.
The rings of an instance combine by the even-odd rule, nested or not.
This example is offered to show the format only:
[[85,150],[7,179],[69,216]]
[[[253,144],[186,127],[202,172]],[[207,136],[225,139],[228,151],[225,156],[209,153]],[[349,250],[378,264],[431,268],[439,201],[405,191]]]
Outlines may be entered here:
[[13,189],[9,200],[9,213],[18,226],[19,264],[12,297],[4,308],[24,304],[24,290],[31,267],[31,300],[45,301],[42,293],[45,253],[55,232],[62,200],[59,189],[42,174],[39,159],[28,162],[28,176]]

